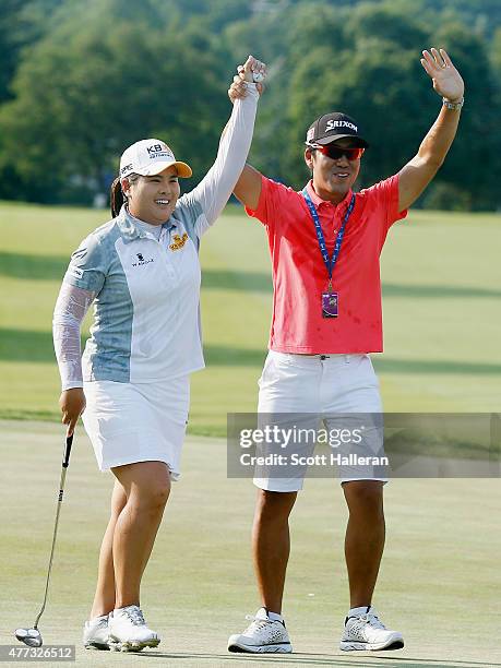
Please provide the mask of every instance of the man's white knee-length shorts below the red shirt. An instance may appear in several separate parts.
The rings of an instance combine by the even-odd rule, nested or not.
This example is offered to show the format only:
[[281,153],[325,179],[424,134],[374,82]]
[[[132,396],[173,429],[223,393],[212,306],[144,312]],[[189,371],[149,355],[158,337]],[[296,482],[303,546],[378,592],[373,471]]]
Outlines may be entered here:
[[[299,429],[317,429],[322,416],[336,414],[382,413],[379,381],[368,355],[291,355],[270,350],[259,380],[260,424],[266,420],[281,422],[290,429],[287,414],[293,414]],[[319,419],[320,418],[320,419]],[[298,419],[299,422],[298,424]],[[335,425],[335,418],[323,418],[326,430]],[[374,455],[382,451],[382,430],[371,429],[358,448],[357,455]],[[314,444],[295,445],[298,453],[310,455]],[[275,469],[276,470],[276,469]],[[375,470],[375,469],[374,469]],[[254,485],[269,491],[299,491],[302,489],[307,466],[288,467],[281,477],[254,477]],[[288,477],[290,475],[290,477]],[[372,467],[339,466],[341,482],[350,480],[387,481],[373,473]]]

